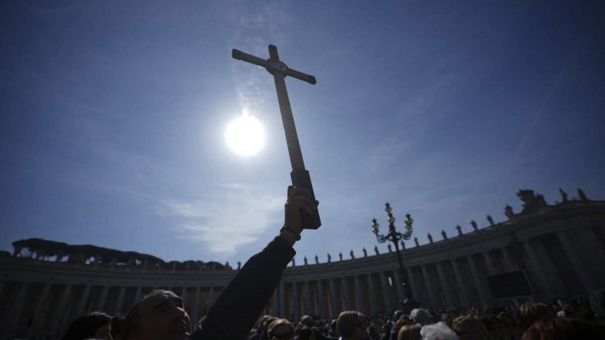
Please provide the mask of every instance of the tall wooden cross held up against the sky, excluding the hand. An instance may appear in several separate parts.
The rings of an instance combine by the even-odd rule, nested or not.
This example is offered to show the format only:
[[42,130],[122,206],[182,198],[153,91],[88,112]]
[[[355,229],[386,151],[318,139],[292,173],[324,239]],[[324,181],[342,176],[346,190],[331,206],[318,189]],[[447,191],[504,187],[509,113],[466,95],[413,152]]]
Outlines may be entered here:
[[[234,57],[234,59],[244,60],[250,64],[264,67],[270,74],[273,74],[273,79],[275,79],[275,90],[277,90],[277,100],[280,103],[281,120],[284,124],[284,131],[286,132],[286,143],[288,145],[288,153],[290,154],[290,164],[292,165],[292,172],[290,172],[292,185],[302,186],[303,188],[308,189],[313,201],[315,201],[311,177],[309,171],[304,168],[304,162],[302,161],[301,146],[298,142],[298,134],[296,134],[294,117],[292,117],[292,108],[290,108],[290,99],[288,98],[288,92],[286,91],[286,80],[284,79],[286,76],[290,76],[315,84],[317,82],[315,77],[287,67],[287,65],[280,60],[280,56],[277,53],[277,47],[274,45],[269,45],[269,59],[267,60],[252,56],[251,54],[244,53],[240,50],[235,50],[235,48],[231,51],[231,56]],[[321,220],[319,220],[318,211],[315,211],[315,214],[313,215],[302,214],[302,227],[306,229],[317,229],[319,226],[321,226]]]

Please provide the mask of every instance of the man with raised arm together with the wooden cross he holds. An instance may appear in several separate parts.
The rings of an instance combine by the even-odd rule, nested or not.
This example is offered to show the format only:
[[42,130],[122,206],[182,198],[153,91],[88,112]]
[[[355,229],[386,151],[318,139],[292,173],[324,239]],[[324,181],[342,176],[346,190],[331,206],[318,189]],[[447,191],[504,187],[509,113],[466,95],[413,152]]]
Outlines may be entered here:
[[284,226],[280,234],[241,267],[193,334],[191,319],[185,312],[183,299],[168,290],[154,290],[128,312],[122,326],[123,339],[246,339],[263,307],[280,283],[284,269],[294,257],[296,252],[292,246],[300,240],[302,229],[317,229],[321,226],[316,208],[319,202],[315,200],[309,171],[304,168],[302,161],[284,78],[291,76],[312,84],[315,84],[316,80],[309,74],[288,68],[280,60],[277,47],[273,45],[269,45],[269,56],[269,59],[264,60],[239,50],[232,50],[232,57],[266,68],[275,80],[292,164],[292,186],[288,188]]

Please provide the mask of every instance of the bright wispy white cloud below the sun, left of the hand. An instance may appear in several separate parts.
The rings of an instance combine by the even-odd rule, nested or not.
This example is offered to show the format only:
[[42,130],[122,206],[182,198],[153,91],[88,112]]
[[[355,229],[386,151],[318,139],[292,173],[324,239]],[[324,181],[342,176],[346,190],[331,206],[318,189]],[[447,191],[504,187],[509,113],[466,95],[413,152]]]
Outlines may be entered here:
[[217,255],[234,255],[252,243],[281,216],[283,195],[230,183],[218,185],[197,200],[163,200],[161,215],[175,218],[178,238],[201,243]]

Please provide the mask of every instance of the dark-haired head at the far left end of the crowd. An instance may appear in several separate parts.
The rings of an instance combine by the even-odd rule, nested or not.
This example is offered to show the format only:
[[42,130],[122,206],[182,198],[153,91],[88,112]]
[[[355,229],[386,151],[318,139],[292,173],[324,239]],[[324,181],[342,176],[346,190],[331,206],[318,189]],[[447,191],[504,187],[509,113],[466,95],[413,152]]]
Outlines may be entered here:
[[62,340],[84,340],[84,339],[105,339],[111,338],[111,316],[102,312],[92,312],[88,315],[82,315],[71,322],[67,333]]

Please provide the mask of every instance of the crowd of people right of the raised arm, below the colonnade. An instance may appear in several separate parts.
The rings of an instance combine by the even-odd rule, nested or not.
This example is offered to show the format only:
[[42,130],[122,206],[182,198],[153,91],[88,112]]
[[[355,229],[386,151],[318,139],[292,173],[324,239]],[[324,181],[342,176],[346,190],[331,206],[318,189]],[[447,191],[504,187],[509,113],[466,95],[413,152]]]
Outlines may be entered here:
[[[280,327],[276,328],[278,325]],[[278,336],[275,336],[277,334]],[[284,338],[281,335],[286,335]],[[586,296],[445,310],[414,309],[298,323],[263,316],[249,340],[547,340],[605,339],[605,289]]]

